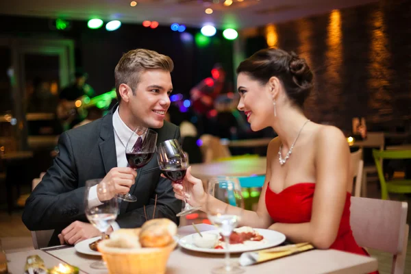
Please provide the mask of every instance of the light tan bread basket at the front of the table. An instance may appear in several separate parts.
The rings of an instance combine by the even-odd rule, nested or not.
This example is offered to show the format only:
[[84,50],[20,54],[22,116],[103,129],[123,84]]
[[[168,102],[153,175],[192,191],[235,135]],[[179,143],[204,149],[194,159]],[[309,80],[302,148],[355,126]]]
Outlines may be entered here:
[[166,247],[123,249],[108,247],[108,240],[99,243],[98,249],[110,274],[164,274],[171,251],[177,242]]

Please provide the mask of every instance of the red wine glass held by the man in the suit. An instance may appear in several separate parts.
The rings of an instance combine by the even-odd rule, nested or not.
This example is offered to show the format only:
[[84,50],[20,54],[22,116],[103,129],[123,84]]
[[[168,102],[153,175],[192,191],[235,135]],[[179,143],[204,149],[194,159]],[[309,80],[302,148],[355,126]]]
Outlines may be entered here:
[[[157,132],[147,127],[137,127],[125,146],[125,158],[132,169],[141,169],[148,164],[155,153]],[[134,195],[119,195],[124,201],[137,201]]]

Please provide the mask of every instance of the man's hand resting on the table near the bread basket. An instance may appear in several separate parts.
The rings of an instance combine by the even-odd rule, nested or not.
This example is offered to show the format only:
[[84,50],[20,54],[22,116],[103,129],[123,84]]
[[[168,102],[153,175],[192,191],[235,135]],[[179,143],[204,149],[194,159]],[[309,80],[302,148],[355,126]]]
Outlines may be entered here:
[[61,245],[75,245],[77,242],[100,236],[101,232],[90,223],[75,221],[58,234]]

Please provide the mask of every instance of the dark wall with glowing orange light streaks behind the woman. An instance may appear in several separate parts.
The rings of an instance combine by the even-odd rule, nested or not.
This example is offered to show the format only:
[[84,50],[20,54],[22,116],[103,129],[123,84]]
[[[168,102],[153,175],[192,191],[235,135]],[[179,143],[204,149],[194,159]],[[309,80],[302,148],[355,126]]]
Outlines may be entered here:
[[[411,1],[380,1],[275,25],[276,47],[306,58],[316,90],[306,114],[349,131],[365,116],[371,130],[411,120]],[[247,40],[247,54],[266,47]]]

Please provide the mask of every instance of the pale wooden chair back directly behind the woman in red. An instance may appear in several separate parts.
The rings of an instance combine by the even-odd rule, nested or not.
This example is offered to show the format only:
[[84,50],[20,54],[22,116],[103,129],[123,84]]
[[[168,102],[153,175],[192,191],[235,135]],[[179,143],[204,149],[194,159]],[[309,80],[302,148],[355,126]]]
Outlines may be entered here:
[[393,255],[392,274],[405,269],[408,224],[408,203],[363,197],[351,197],[350,224],[360,247],[368,247]]

